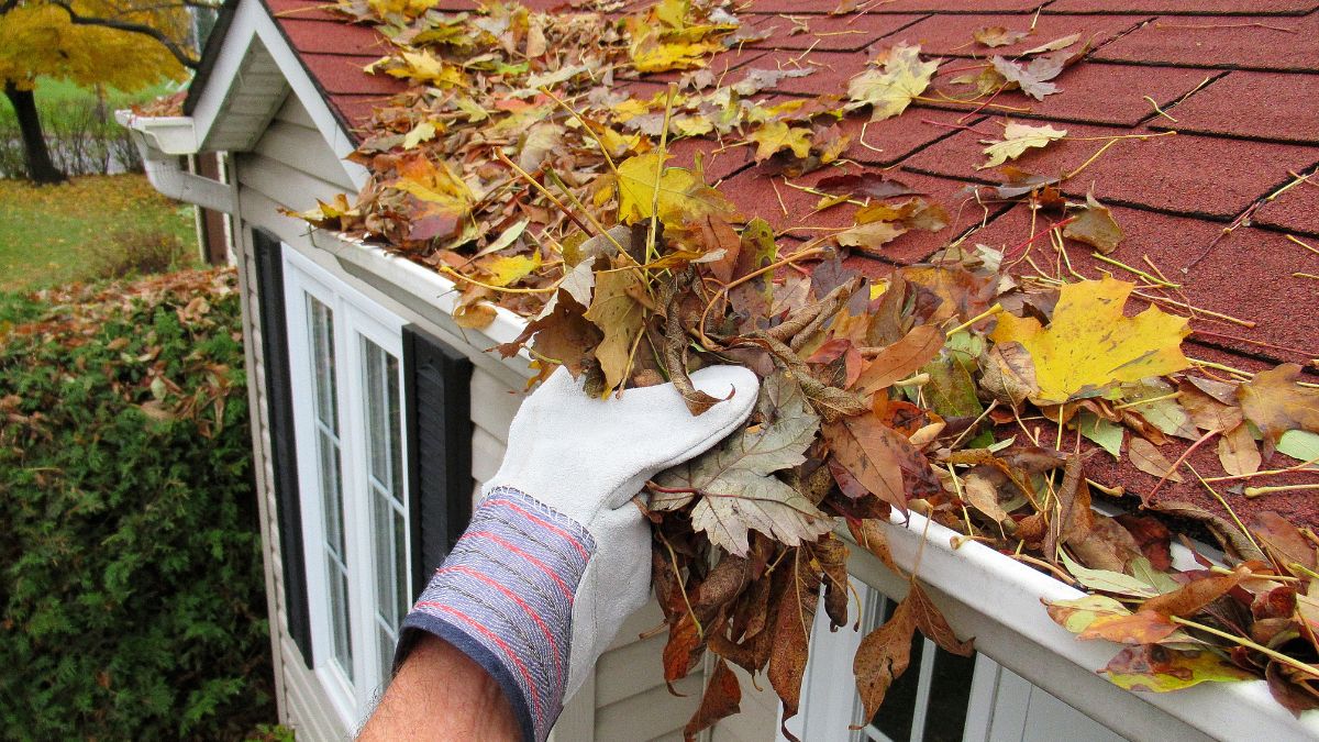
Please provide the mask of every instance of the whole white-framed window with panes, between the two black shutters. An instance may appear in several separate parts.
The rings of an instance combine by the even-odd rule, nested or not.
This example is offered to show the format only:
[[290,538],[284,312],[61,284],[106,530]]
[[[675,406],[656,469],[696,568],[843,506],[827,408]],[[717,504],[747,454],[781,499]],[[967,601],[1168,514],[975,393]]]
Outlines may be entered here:
[[313,668],[355,727],[412,602],[402,321],[284,248]]

